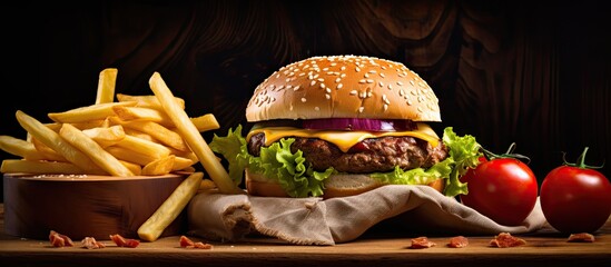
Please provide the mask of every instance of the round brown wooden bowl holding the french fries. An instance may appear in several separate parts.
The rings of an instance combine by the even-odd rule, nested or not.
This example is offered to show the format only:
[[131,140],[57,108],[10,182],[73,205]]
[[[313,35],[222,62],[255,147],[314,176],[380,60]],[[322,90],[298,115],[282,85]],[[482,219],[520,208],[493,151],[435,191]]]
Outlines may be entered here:
[[[4,175],[4,231],[48,239],[55,230],[80,240],[109,235],[137,238],[137,230],[186,176],[58,176]],[[187,229],[181,212],[161,234]]]

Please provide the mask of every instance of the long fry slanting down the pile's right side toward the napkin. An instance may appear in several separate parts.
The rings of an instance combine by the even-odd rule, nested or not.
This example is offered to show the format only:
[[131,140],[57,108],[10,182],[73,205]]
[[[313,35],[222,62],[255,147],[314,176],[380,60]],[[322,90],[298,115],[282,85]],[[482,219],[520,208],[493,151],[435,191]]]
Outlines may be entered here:
[[183,136],[190,149],[197,155],[197,158],[216,182],[219,190],[225,194],[244,192],[234,184],[221,162],[216,159],[216,155],[210,147],[208,147],[208,144],[204,140],[204,137],[191,122],[185,110],[176,105],[174,95],[158,72],[152,73],[152,77],[149,79],[149,86],[157,99],[159,99],[161,107],[164,107],[164,110],[180,132],[180,136]]

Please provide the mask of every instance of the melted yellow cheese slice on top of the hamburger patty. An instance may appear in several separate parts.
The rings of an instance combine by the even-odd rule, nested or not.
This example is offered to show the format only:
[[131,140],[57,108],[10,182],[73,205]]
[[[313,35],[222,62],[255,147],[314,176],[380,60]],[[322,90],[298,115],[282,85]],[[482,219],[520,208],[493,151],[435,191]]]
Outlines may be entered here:
[[341,131],[341,130],[308,130],[295,127],[265,127],[252,130],[248,132],[246,140],[255,134],[265,134],[265,146],[269,146],[273,142],[285,137],[305,137],[305,138],[319,138],[328,142],[335,144],[342,151],[347,152],[351,147],[367,138],[380,137],[403,137],[410,136],[425,140],[431,146],[436,147],[440,142],[438,136],[426,123],[417,123],[417,130],[412,131]]

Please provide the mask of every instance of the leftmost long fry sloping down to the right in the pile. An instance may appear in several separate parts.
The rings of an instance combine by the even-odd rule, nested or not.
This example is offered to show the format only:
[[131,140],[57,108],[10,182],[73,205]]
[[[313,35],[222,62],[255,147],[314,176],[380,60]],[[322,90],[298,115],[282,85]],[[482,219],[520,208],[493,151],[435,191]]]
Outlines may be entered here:
[[17,120],[33,138],[40,140],[56,152],[59,152],[68,161],[83,169],[86,172],[99,171],[99,167],[83,152],[63,140],[57,132],[42,125],[21,110],[16,112]]

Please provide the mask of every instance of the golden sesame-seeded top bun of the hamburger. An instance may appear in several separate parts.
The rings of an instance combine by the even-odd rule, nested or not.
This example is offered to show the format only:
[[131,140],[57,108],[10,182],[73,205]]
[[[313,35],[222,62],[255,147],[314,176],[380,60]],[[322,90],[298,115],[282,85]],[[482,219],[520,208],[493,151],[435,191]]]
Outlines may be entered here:
[[367,118],[441,121],[438,99],[401,62],[313,57],[282,67],[254,91],[248,121]]

